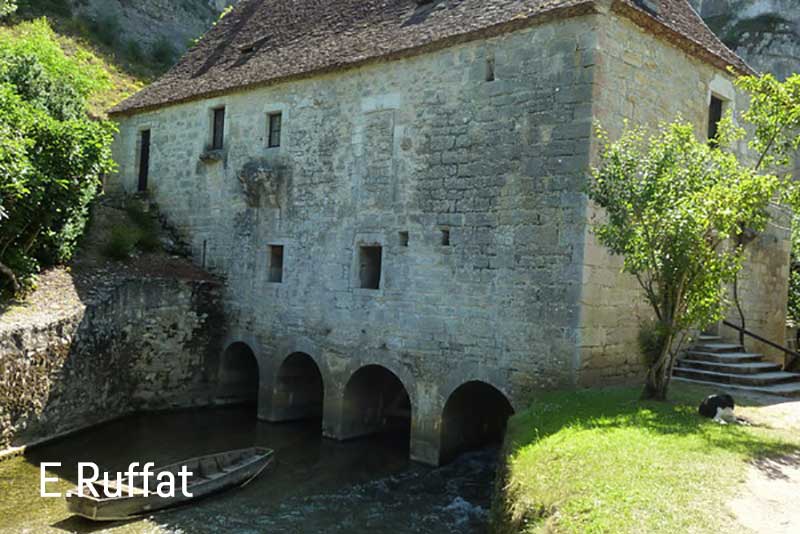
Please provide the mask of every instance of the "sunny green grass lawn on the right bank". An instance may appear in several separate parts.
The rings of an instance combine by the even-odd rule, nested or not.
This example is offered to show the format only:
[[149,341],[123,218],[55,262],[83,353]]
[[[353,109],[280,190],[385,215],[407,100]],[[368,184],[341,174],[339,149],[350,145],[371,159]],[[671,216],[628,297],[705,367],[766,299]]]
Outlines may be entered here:
[[726,503],[751,460],[800,449],[797,432],[701,418],[701,388],[674,384],[669,403],[640,402],[639,392],[552,393],[515,415],[496,530],[742,532]]

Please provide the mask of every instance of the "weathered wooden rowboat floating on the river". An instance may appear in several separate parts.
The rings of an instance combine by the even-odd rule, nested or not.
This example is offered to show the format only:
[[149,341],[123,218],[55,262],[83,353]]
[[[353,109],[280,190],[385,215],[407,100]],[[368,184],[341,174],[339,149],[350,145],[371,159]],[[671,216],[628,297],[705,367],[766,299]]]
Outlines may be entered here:
[[[136,483],[131,490],[127,485],[127,479],[122,479],[122,485],[118,486],[117,481],[109,482],[105,485],[101,482],[94,482],[97,494],[100,496],[84,495],[78,492],[78,488],[69,491],[66,495],[67,509],[73,513],[93,521],[121,521],[133,517],[149,514],[156,510],[186,504],[189,501],[205,497],[212,493],[217,493],[235,486],[243,486],[256,478],[266,469],[274,459],[274,451],[260,447],[249,449],[239,449],[235,451],[221,452],[191,458],[182,462],[158,467],[153,470],[154,475],[150,477],[148,486],[150,493],[145,495],[142,489],[142,477],[136,478]],[[156,484],[155,476],[161,472],[171,472],[177,479],[178,472],[186,467],[192,476],[188,480],[187,490],[191,497],[187,497],[181,491],[180,484],[177,485],[175,495],[172,497],[160,497],[153,491]],[[119,490],[122,496],[117,497]],[[133,493],[131,496],[130,494]]]

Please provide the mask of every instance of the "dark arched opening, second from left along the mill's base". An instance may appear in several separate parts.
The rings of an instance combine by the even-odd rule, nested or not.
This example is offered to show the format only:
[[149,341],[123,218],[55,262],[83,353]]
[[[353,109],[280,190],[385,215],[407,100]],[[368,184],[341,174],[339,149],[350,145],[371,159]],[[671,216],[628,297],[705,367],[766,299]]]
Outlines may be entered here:
[[322,373],[308,354],[286,358],[275,376],[270,421],[297,421],[322,417]]

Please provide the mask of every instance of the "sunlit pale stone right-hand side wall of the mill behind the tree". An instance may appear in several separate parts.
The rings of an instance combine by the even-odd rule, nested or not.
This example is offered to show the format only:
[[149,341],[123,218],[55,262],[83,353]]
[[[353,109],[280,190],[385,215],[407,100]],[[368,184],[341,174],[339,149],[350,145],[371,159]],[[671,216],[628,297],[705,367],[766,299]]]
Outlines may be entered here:
[[[705,136],[712,93],[741,112],[746,101],[732,78],[646,33],[627,19],[599,17],[602,64],[595,76],[594,116],[612,138],[623,121],[656,127],[679,116]],[[597,150],[597,146],[593,151]],[[744,151],[745,147],[740,147]],[[589,206],[588,219],[599,217]],[[742,272],[742,303],[757,333],[782,341],[788,293],[788,226],[779,222],[750,245]],[[633,381],[643,374],[637,346],[640,322],[650,317],[638,284],[621,274],[622,261],[610,257],[587,228],[581,298],[580,382]],[[733,319],[733,315],[729,314]],[[738,321],[736,321],[738,322]],[[729,332],[723,332],[730,338]],[[748,349],[763,347],[748,342]]]

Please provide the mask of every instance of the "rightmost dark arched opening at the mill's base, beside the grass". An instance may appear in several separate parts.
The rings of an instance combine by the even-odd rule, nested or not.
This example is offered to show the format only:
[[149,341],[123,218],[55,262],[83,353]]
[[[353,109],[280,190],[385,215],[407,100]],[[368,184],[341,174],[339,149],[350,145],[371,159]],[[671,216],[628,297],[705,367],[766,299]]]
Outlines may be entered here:
[[479,381],[459,386],[442,411],[442,463],[468,450],[501,444],[513,413],[511,403],[494,386]]

